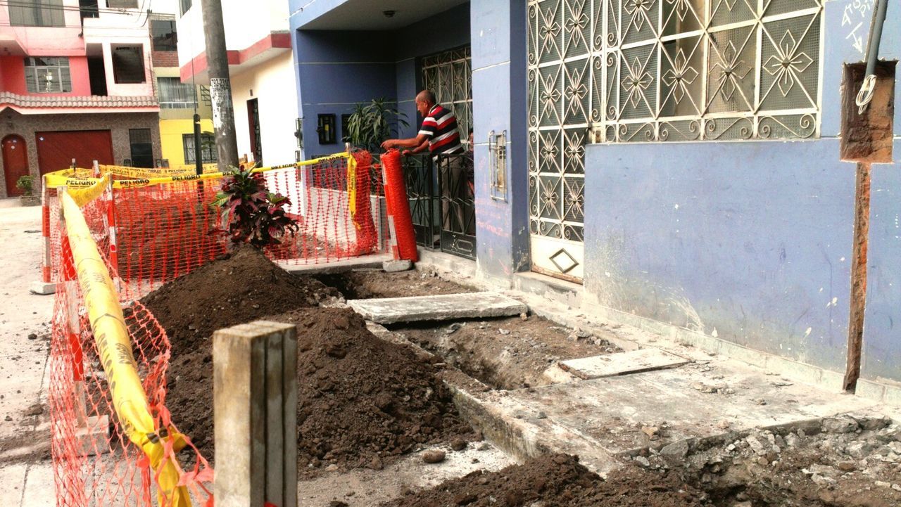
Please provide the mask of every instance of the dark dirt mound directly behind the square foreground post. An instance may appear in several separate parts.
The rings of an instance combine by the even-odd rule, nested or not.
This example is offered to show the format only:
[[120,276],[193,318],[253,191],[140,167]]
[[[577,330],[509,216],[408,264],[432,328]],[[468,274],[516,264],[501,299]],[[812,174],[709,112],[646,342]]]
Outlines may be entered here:
[[[423,444],[474,436],[451,393],[410,349],[374,337],[348,309],[300,309],[268,320],[294,322],[298,336],[297,461],[300,475],[334,465],[380,469]],[[213,365],[205,350],[173,358],[168,407],[178,428],[213,455]]]

